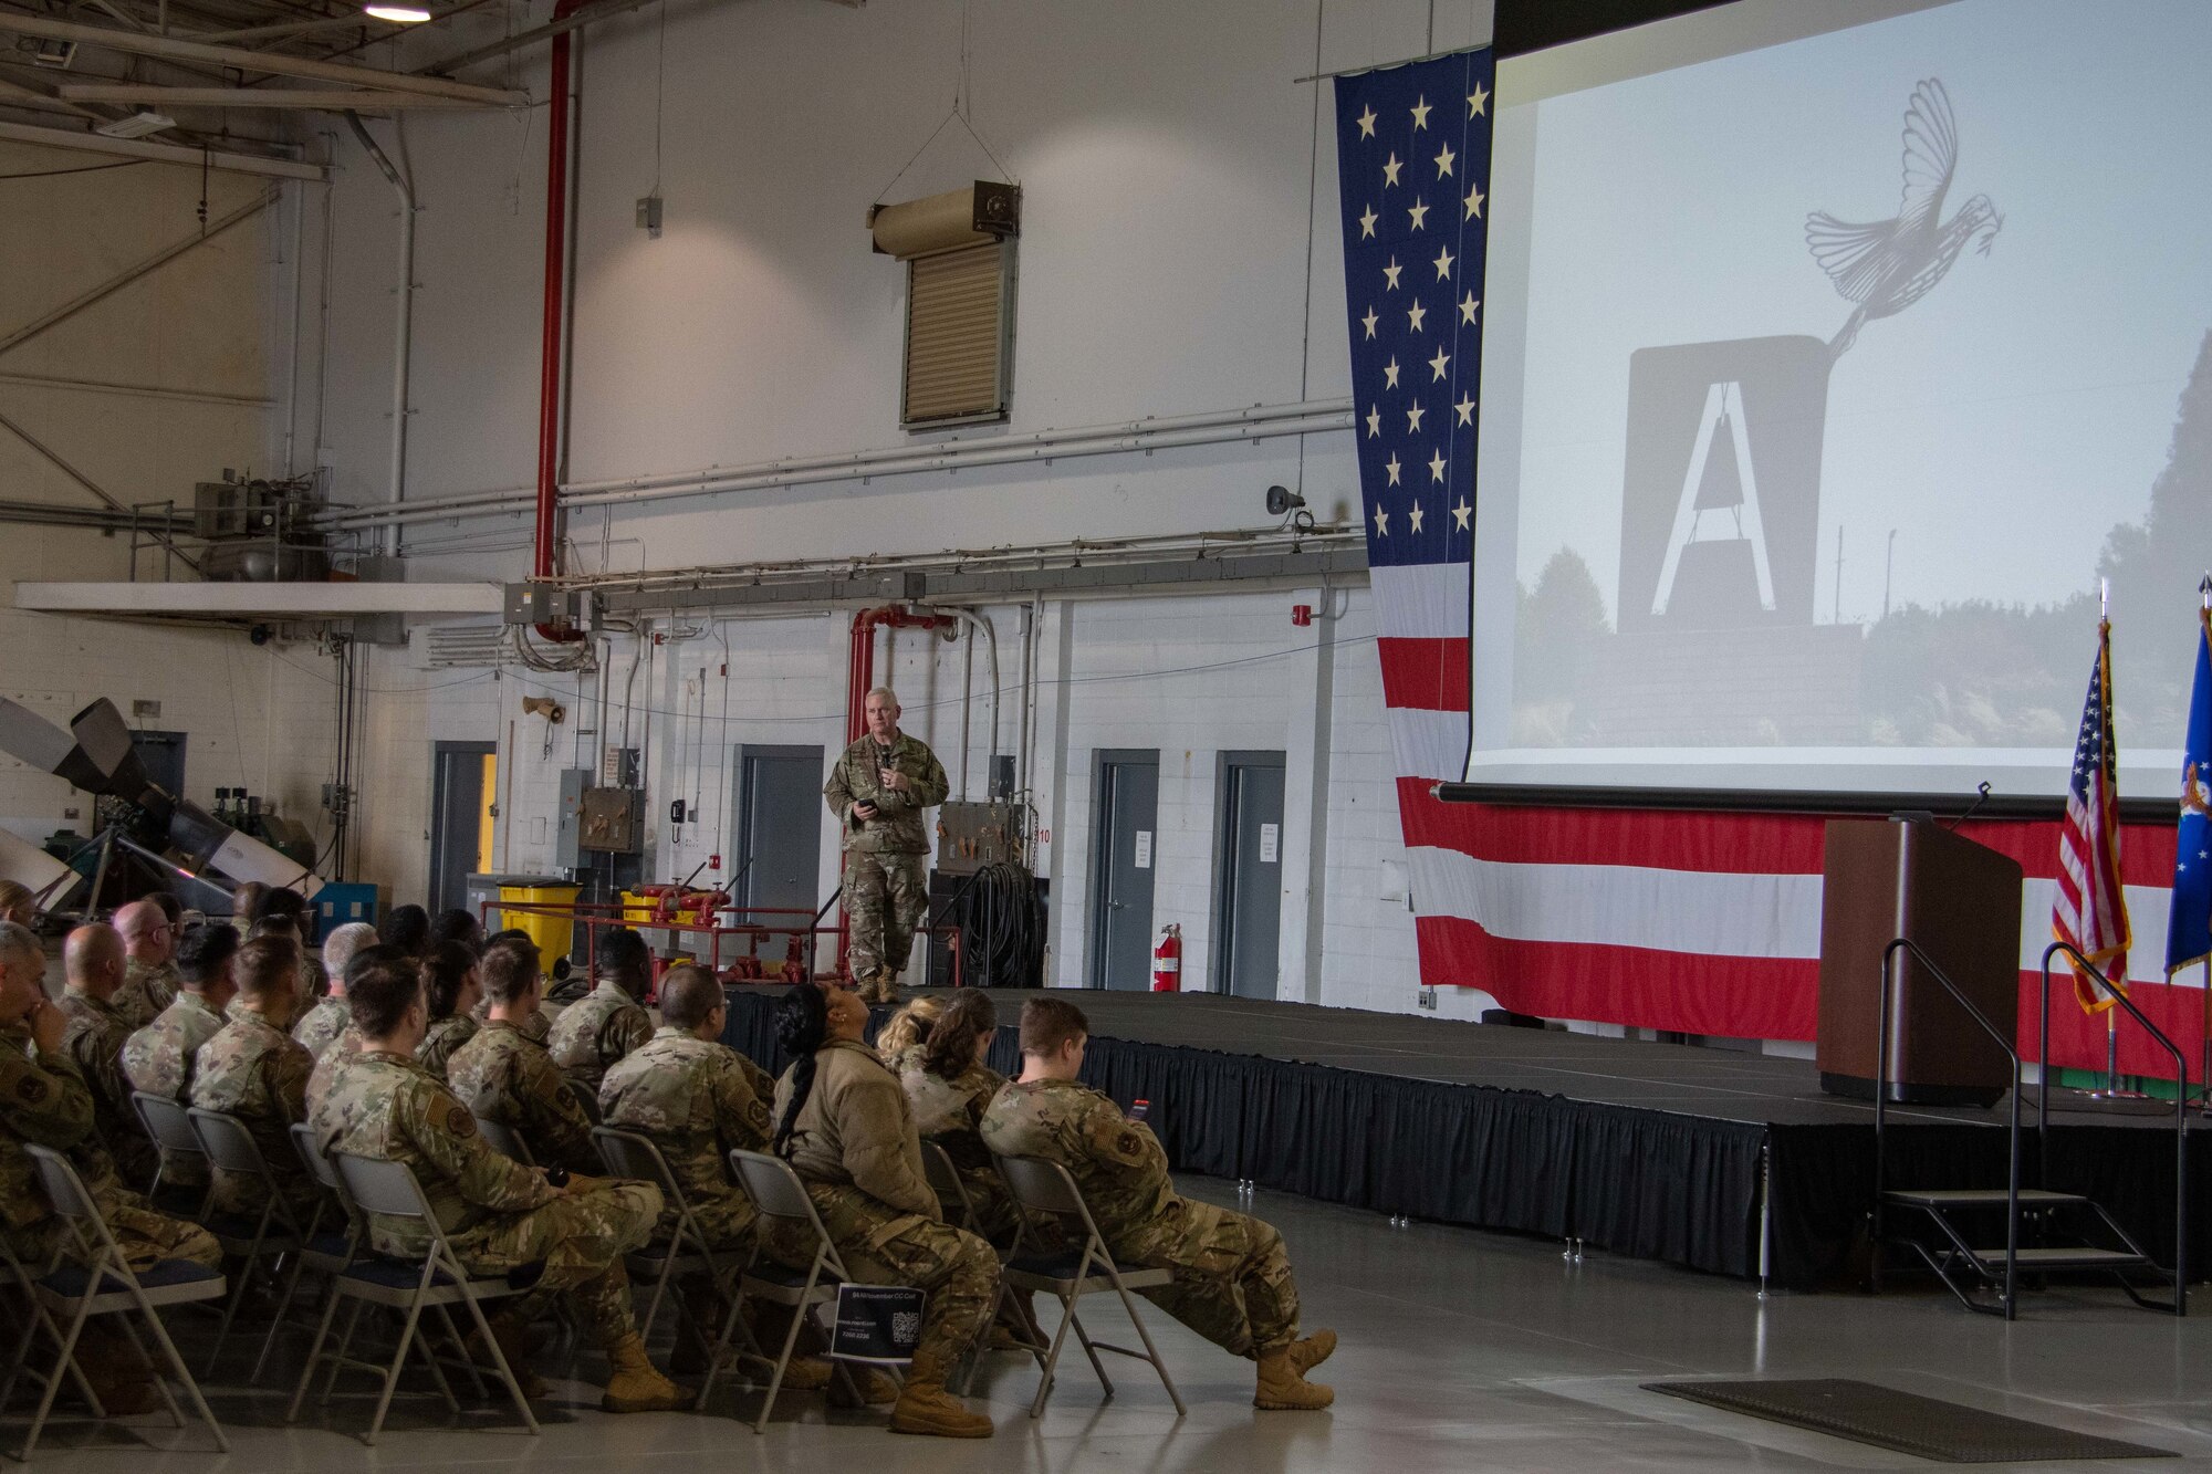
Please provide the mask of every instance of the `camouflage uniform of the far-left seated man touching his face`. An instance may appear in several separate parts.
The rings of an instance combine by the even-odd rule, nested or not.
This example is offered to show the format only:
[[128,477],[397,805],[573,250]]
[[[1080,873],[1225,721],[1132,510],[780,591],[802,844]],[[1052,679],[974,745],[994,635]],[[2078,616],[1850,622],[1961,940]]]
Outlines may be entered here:
[[38,1184],[38,1166],[24,1151],[29,1142],[73,1158],[131,1268],[161,1259],[221,1266],[223,1250],[215,1235],[155,1213],[144,1197],[115,1182],[93,1131],[95,1118],[97,1100],[69,1051],[38,1051],[22,1023],[0,1029],[0,1233],[7,1235],[9,1250],[38,1270],[71,1242]]

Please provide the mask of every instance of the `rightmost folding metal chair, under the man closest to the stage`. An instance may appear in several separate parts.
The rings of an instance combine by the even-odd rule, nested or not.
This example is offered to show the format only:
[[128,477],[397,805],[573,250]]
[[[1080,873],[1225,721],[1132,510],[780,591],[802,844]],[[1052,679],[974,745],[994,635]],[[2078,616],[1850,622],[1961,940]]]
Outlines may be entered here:
[[[1062,1310],[1051,1350],[1040,1352],[1037,1346],[1029,1348],[1037,1357],[1037,1370],[1042,1372],[1037,1397],[1029,1403],[1029,1416],[1044,1414],[1044,1399],[1053,1392],[1053,1368],[1060,1366],[1068,1330],[1075,1332],[1084,1354],[1091,1357],[1091,1370],[1097,1372],[1106,1397],[1113,1397],[1113,1379],[1106,1377],[1106,1366],[1099,1361],[1102,1350],[1110,1350],[1117,1357],[1133,1357],[1135,1361],[1150,1361],[1152,1370],[1159,1372],[1159,1385],[1168,1390],[1168,1401],[1175,1403],[1175,1416],[1183,1416],[1183,1394],[1175,1390],[1175,1379],[1168,1377],[1168,1368],[1159,1359],[1159,1348],[1152,1346],[1152,1332],[1144,1328],[1144,1317],[1137,1315],[1137,1297],[1130,1295],[1130,1290],[1152,1290],[1172,1284],[1175,1275],[1164,1268],[1124,1268],[1115,1264],[1097,1219],[1091,1217],[1091,1206],[1084,1202],[1082,1188],[1075,1186],[1075,1177],[1060,1162],[1046,1162],[1044,1158],[998,1158],[998,1173],[1006,1180],[1006,1193],[1020,1211],[1015,1215],[1020,1237],[1015,1239],[1013,1257],[1006,1259],[1002,1284],[1018,1290],[1044,1290],[1060,1301]],[[1026,1224],[1031,1213],[1051,1215],[1068,1228],[1079,1226],[1079,1244],[1057,1253],[1031,1250],[1031,1231]],[[1077,1235],[1068,1233],[1068,1239],[1075,1242]],[[1082,1319],[1075,1315],[1075,1301],[1099,1290],[1113,1290],[1121,1297],[1128,1324],[1137,1328],[1137,1337],[1144,1341],[1141,1352],[1093,1341],[1091,1332],[1084,1330]],[[1042,1337],[1035,1319],[1026,1315],[1022,1319],[1029,1321],[1031,1335]]]

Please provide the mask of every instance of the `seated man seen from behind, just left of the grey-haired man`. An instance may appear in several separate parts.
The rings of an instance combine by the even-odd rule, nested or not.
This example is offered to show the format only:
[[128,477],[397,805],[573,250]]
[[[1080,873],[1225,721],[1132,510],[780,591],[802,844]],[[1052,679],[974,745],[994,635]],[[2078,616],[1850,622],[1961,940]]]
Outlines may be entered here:
[[[237,1115],[252,1133],[261,1158],[301,1226],[321,1195],[292,1149],[292,1124],[307,1120],[307,1071],[314,1058],[285,1034],[299,1005],[299,943],[261,936],[239,949],[239,998],[221,1034],[199,1047],[192,1071],[192,1104],[201,1111]],[[223,1213],[259,1213],[263,1184],[257,1177],[215,1173],[215,1206]]]

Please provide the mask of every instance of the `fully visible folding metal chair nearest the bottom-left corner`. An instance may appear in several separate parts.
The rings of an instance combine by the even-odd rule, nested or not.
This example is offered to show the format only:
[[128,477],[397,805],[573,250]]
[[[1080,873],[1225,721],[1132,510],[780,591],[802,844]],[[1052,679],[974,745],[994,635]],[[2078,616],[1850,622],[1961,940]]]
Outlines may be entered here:
[[[144,1341],[131,1328],[128,1315],[133,1310],[146,1317],[146,1330],[153,1332],[170,1370],[192,1399],[192,1408],[208,1425],[208,1432],[215,1434],[215,1447],[228,1454],[230,1439],[223,1436],[223,1425],[215,1421],[208,1399],[199,1394],[199,1383],[192,1381],[184,1357],[177,1354],[177,1343],[168,1339],[168,1326],[155,1312],[159,1306],[221,1299],[228,1288],[221,1270],[210,1270],[190,1259],[159,1259],[146,1270],[135,1273],[128,1259],[124,1259],[122,1248],[117,1248],[115,1235],[108,1233],[106,1219],[100,1217],[93,1195],[84,1191],[77,1169],[69,1164],[69,1158],[51,1146],[35,1146],[31,1142],[24,1142],[24,1151],[38,1164],[38,1180],[46,1191],[46,1202],[53,1204],[69,1235],[64,1257],[73,1257],[75,1262],[60,1264],[33,1281],[31,1293],[44,1306],[46,1315],[62,1326],[62,1354],[44,1377],[31,1372],[40,1377],[44,1390],[40,1392],[38,1412],[31,1416],[31,1432],[18,1459],[29,1463],[31,1450],[38,1447],[38,1434],[46,1428],[46,1414],[53,1412],[53,1394],[60,1392],[62,1377],[75,1366],[77,1337],[84,1335],[84,1321],[95,1315],[119,1317],[124,1335],[144,1354]],[[71,1248],[75,1255],[69,1255]],[[161,1401],[168,1403],[168,1416],[177,1428],[184,1428],[184,1412],[177,1408],[168,1383],[155,1374],[153,1385],[161,1394]]]

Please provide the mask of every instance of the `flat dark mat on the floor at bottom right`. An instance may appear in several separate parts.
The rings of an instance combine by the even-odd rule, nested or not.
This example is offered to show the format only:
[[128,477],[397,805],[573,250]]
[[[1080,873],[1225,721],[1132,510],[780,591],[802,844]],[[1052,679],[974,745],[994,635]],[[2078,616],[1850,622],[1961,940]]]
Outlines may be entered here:
[[2048,1423],[2008,1419],[1871,1381],[1648,1381],[1692,1403],[1809,1428],[1851,1443],[1918,1454],[1940,1463],[2042,1463],[2051,1459],[2179,1459],[2163,1447],[2093,1439]]

